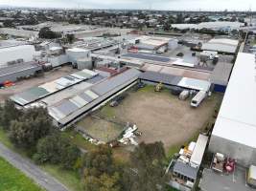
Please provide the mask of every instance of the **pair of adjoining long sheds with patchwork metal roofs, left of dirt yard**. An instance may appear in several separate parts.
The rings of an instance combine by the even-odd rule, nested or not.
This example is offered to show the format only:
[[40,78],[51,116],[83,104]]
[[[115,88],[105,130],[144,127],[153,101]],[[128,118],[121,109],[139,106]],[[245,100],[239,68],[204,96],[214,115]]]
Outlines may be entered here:
[[47,108],[54,123],[62,128],[126,91],[137,82],[139,74],[136,69],[119,70],[114,76],[83,70],[11,96],[11,99],[21,108]]

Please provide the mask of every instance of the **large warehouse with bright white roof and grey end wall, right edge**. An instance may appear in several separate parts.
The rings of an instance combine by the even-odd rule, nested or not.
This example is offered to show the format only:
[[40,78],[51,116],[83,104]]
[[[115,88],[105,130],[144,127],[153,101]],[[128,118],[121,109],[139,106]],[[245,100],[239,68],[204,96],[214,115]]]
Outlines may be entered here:
[[244,166],[256,164],[255,74],[255,55],[239,53],[209,146]]

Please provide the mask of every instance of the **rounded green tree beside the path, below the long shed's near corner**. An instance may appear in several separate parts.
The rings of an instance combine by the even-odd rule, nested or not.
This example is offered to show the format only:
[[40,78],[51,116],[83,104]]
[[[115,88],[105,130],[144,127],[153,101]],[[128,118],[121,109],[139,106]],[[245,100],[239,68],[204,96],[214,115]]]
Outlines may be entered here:
[[73,169],[80,157],[80,149],[71,143],[69,138],[62,137],[59,132],[41,138],[36,145],[34,155],[37,163],[60,163],[65,169]]

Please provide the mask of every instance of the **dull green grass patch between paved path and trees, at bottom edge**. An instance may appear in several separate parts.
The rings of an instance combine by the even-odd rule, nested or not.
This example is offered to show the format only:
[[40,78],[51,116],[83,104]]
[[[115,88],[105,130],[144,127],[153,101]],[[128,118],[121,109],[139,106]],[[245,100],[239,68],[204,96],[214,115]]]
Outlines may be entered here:
[[63,170],[57,165],[42,165],[41,168],[63,183],[70,191],[82,191],[80,175],[75,171]]

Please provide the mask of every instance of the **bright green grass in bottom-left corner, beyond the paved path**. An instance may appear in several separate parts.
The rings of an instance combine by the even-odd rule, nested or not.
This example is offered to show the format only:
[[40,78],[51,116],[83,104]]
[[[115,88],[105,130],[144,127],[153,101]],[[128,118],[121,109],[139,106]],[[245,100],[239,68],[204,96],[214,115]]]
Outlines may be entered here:
[[1,191],[42,191],[33,180],[14,168],[8,161],[0,158]]

